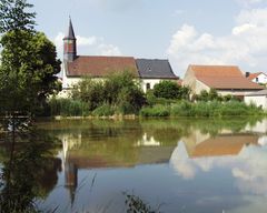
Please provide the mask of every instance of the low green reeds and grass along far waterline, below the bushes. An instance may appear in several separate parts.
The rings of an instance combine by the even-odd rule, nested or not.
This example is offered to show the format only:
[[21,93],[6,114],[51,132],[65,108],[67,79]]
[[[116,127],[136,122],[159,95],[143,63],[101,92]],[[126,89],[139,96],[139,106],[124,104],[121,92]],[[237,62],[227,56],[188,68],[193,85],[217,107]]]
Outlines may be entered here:
[[[87,103],[71,99],[55,99],[50,101],[51,116],[112,116],[123,115],[123,111],[117,105],[102,104],[90,111]],[[266,112],[256,105],[246,105],[244,102],[189,102],[179,101],[168,104],[155,104],[144,106],[140,116],[191,116],[191,118],[220,118],[220,116],[244,116],[244,115],[265,115]]]

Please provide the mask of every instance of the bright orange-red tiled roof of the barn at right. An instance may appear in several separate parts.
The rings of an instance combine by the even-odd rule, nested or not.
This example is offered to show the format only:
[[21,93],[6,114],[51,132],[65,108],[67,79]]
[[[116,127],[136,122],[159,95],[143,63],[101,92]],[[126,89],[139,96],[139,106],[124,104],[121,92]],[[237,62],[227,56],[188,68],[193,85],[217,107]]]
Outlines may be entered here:
[[263,87],[244,77],[234,65],[190,65],[197,80],[214,89],[260,90]]

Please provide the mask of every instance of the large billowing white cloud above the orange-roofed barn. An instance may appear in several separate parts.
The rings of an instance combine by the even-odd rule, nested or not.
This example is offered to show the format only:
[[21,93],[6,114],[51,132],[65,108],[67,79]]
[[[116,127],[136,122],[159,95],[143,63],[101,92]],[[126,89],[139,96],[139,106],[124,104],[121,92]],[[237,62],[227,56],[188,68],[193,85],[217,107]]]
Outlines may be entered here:
[[236,26],[226,36],[200,33],[194,26],[184,24],[172,36],[167,54],[178,74],[188,64],[237,64],[241,69],[266,69],[267,8],[243,10]]

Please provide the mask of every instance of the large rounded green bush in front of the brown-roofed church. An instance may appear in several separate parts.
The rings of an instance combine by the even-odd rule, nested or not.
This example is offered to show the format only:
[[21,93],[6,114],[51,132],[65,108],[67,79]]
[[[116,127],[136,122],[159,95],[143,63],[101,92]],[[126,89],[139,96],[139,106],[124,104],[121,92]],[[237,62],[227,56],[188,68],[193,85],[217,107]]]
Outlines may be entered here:
[[113,73],[105,81],[85,79],[73,88],[71,97],[86,102],[90,111],[108,103],[117,106],[122,114],[137,113],[146,103],[138,83],[128,71]]

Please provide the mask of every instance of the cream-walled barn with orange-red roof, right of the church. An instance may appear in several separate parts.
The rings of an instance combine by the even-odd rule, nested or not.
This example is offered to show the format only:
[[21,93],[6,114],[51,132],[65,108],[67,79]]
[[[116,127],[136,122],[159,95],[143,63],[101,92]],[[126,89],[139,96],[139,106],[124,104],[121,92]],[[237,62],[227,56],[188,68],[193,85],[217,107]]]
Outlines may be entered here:
[[263,90],[263,87],[249,81],[235,65],[189,65],[182,84],[189,87],[192,94],[216,89],[221,95],[240,98]]

